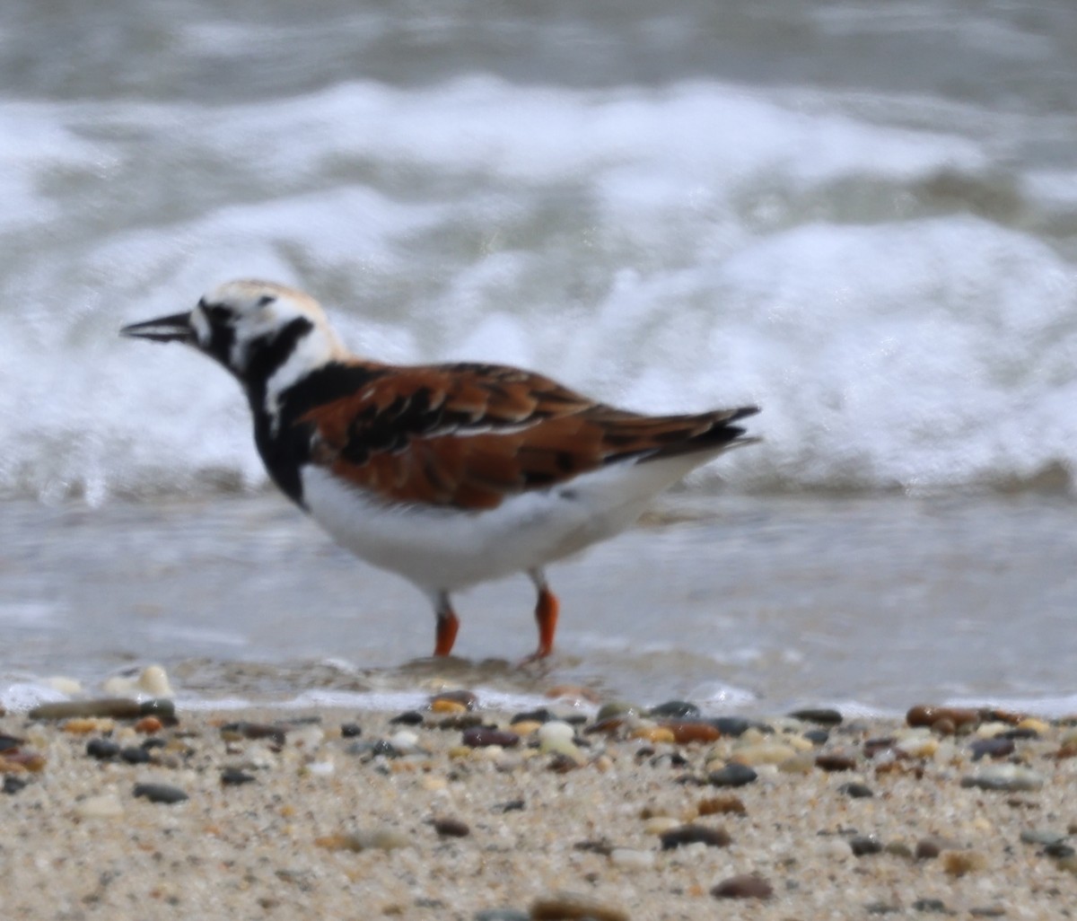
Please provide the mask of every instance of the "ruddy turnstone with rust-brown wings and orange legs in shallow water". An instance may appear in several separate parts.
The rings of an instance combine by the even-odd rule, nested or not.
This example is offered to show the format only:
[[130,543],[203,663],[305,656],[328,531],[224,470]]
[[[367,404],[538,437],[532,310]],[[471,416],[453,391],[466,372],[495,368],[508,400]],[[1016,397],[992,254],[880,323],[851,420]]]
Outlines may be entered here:
[[397,366],[351,354],[308,295],[230,281],[193,310],[124,326],[179,341],[238,379],[274,482],[358,557],[433,602],[435,656],[459,620],[450,592],[527,572],[548,656],[558,601],[544,567],[624,530],[658,492],[737,445],[755,406],[641,416],[494,364]]

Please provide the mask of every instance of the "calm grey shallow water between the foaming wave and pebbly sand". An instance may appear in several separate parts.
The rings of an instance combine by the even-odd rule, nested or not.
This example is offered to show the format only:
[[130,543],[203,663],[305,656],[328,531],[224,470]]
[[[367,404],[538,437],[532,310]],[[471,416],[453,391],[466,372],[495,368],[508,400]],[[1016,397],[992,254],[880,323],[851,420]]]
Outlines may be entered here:
[[159,661],[190,699],[367,706],[446,679],[739,711],[1077,708],[1077,533],[1055,499],[673,497],[551,571],[558,651],[527,668],[527,580],[462,595],[458,657],[433,661],[425,599],[277,497],[5,512],[0,687]]

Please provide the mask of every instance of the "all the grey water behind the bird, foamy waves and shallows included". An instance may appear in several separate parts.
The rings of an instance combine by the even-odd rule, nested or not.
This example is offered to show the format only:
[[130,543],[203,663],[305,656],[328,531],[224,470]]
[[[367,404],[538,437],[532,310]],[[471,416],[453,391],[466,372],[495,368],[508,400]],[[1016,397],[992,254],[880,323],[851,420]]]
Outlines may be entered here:
[[[0,697],[159,660],[1066,709],[1075,61],[1065,2],[4,3]],[[555,571],[547,673],[523,580],[432,665],[423,599],[267,496],[234,382],[116,336],[237,276],[765,441]]]

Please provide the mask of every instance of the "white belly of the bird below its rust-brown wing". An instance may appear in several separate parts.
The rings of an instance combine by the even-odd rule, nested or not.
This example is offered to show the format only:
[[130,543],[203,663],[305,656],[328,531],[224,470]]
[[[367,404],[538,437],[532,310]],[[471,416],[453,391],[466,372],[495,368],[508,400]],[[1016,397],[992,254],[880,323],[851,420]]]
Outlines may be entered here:
[[303,497],[342,547],[431,594],[542,567],[624,530],[708,458],[675,460],[603,468],[481,512],[387,505],[317,466],[303,469]]

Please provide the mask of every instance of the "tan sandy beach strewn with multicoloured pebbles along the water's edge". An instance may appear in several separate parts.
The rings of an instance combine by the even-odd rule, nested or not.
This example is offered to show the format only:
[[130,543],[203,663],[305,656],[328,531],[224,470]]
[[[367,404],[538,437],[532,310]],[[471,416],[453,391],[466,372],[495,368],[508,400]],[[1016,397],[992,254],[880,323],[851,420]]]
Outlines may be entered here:
[[643,715],[551,690],[532,714],[466,694],[405,713],[9,712],[4,915],[1058,919],[1077,905],[1069,721]]

